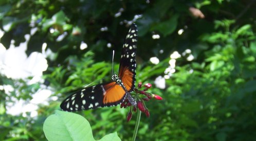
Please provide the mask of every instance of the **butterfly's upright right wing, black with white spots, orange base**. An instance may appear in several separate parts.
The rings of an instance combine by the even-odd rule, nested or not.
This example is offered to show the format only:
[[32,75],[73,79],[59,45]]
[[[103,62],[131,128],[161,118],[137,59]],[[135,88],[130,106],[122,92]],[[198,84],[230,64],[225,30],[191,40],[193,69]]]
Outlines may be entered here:
[[121,78],[124,87],[128,92],[133,91],[136,76],[136,48],[137,48],[137,26],[132,24],[129,32],[126,35],[120,66],[119,66],[119,77]]

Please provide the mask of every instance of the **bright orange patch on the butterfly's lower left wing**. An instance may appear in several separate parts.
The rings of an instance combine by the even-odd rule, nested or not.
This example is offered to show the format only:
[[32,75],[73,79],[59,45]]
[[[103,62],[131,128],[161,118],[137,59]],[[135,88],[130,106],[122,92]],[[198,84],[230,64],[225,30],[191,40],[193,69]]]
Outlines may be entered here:
[[123,88],[116,84],[116,82],[105,85],[104,89],[103,104],[116,103],[125,95]]

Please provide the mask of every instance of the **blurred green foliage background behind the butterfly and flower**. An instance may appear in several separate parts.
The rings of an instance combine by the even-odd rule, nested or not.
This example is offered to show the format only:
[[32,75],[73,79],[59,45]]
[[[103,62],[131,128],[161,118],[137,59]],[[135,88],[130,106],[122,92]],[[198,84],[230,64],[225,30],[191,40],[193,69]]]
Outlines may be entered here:
[[[200,9],[195,17],[190,7]],[[176,72],[166,79],[165,89],[152,92],[161,102],[147,103],[150,118],[142,115],[137,140],[254,140],[256,132],[255,1],[49,1],[0,2],[1,43],[18,46],[32,28],[26,53],[42,52],[43,43],[54,55],[47,58],[44,85],[58,96],[39,105],[38,117],[12,116],[6,103],[12,98],[31,99],[42,84],[1,74],[0,85],[11,85],[11,95],[0,90],[0,140],[46,140],[43,122],[59,109],[67,91],[82,87],[112,72],[112,50],[118,70],[127,24],[138,25],[137,83],[152,83],[168,75],[170,54],[190,53],[176,59]],[[135,16],[137,15],[137,16]],[[101,31],[107,27],[106,31]],[[179,35],[177,32],[183,29]],[[52,32],[53,31],[53,32]],[[60,35],[63,39],[58,39]],[[152,35],[159,34],[159,39]],[[84,42],[88,48],[81,50]],[[111,48],[107,44],[111,44]],[[162,51],[163,52],[162,52]],[[162,53],[161,53],[162,52]],[[52,53],[52,54],[53,54]],[[152,64],[149,59],[159,58]],[[31,79],[30,77],[27,79]],[[79,112],[90,123],[96,139],[117,131],[131,140],[135,117],[126,123],[128,109],[118,107]],[[27,113],[29,115],[29,113]]]

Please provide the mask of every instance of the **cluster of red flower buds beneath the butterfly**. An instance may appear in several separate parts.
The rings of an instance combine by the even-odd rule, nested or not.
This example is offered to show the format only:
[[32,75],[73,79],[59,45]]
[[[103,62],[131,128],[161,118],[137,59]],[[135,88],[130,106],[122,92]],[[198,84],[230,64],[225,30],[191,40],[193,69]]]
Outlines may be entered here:
[[[157,100],[162,100],[162,97],[160,97],[159,95],[147,92],[148,89],[150,89],[151,87],[152,85],[150,83],[147,83],[142,86],[142,83],[140,82],[138,84],[138,89],[136,88],[134,89],[134,92],[136,93],[136,98],[135,98],[137,102],[136,106],[133,106],[127,98],[124,100],[123,103],[121,103],[121,106],[120,106],[121,108],[126,108],[130,106],[130,111],[127,115],[127,122],[130,122],[133,112],[136,112],[137,108],[141,112],[145,113],[147,117],[149,117],[150,116],[149,109],[146,107],[145,102],[148,102],[150,99],[152,99],[152,97]],[[140,90],[140,89],[143,89],[143,90]]]

